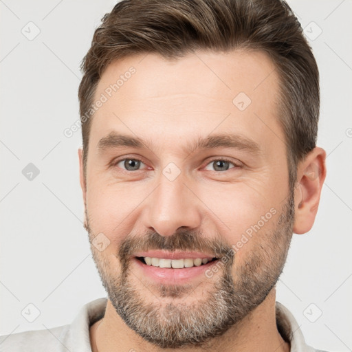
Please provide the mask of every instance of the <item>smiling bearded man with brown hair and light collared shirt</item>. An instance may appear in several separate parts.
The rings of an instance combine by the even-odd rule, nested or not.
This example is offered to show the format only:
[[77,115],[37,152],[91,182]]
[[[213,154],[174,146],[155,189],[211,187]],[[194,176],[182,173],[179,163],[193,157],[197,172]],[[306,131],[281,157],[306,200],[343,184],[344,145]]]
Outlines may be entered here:
[[80,184],[108,299],[5,351],[316,351],[275,299],[326,175],[289,6],[121,1],[83,74]]

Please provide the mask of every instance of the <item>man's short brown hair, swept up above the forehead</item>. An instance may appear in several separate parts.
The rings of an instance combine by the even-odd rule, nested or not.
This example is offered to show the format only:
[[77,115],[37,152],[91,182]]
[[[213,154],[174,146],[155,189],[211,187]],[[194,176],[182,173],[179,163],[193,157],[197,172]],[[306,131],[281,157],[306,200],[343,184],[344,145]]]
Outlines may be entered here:
[[267,53],[280,78],[280,123],[289,184],[316,146],[320,106],[316,60],[294,12],[281,0],[123,0],[102,18],[83,59],[78,97],[86,173],[91,118],[83,118],[109,63],[133,54],[180,58],[195,50]]

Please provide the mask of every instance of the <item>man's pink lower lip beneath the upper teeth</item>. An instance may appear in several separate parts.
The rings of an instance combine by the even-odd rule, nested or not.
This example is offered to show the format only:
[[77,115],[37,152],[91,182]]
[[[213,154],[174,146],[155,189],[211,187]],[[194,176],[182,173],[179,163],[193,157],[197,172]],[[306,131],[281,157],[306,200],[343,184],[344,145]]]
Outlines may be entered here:
[[162,284],[184,284],[188,281],[197,278],[198,276],[204,275],[206,270],[210,269],[212,265],[217,264],[219,259],[211,261],[209,263],[199,265],[199,267],[184,267],[183,269],[174,269],[172,267],[153,267],[153,265],[146,265],[137,258],[133,258],[132,262],[135,263],[144,275],[153,279],[156,283]]

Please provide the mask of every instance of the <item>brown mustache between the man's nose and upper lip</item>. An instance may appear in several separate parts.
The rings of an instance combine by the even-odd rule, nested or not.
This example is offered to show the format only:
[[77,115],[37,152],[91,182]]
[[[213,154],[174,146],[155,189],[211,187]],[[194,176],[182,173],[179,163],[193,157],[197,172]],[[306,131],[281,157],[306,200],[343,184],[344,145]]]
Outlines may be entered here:
[[118,256],[122,260],[128,260],[134,253],[147,252],[148,250],[204,252],[220,258],[228,254],[232,247],[220,236],[209,239],[204,237],[201,232],[180,230],[171,236],[162,236],[151,230],[143,236],[127,236],[120,245]]

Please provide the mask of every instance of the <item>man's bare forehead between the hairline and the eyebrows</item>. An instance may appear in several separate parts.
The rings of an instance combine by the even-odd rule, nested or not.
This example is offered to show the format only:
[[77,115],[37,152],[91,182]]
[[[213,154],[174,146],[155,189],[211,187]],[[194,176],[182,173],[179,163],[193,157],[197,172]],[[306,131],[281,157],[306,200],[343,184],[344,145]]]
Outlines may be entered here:
[[129,56],[111,63],[98,83],[94,102],[104,102],[94,113],[89,144],[111,131],[171,144],[214,130],[283,140],[277,98],[278,76],[263,52]]

